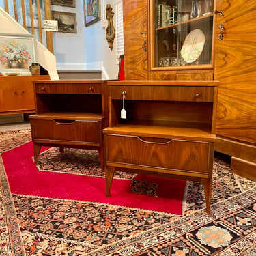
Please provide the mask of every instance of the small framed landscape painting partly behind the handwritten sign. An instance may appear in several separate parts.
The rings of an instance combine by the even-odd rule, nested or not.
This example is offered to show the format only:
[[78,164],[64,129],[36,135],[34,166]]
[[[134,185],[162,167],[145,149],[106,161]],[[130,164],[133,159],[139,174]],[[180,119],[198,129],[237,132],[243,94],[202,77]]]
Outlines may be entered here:
[[53,20],[58,22],[58,32],[76,33],[76,14],[73,12],[53,11]]

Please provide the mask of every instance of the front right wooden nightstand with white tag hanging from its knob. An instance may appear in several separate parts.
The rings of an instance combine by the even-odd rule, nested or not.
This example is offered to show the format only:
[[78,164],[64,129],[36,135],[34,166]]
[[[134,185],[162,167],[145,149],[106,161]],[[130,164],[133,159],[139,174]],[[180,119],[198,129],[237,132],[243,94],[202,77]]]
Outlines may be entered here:
[[[218,81],[110,81],[106,196],[116,170],[203,183],[210,212]],[[121,118],[121,110],[126,118]]]

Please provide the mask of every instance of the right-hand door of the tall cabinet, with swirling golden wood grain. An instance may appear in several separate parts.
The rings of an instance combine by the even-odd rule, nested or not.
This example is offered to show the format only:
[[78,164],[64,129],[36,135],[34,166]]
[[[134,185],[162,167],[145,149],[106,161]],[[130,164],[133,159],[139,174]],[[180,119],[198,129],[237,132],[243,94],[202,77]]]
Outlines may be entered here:
[[[256,2],[219,0],[216,19],[215,79],[218,89],[216,134],[256,143]],[[223,40],[218,39],[223,24]]]

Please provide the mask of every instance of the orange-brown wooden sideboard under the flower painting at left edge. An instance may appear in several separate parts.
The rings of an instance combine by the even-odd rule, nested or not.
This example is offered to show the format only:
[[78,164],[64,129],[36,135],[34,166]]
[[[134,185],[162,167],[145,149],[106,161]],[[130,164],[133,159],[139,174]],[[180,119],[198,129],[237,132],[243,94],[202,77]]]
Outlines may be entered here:
[[50,76],[0,76],[0,115],[33,113],[33,81]]

